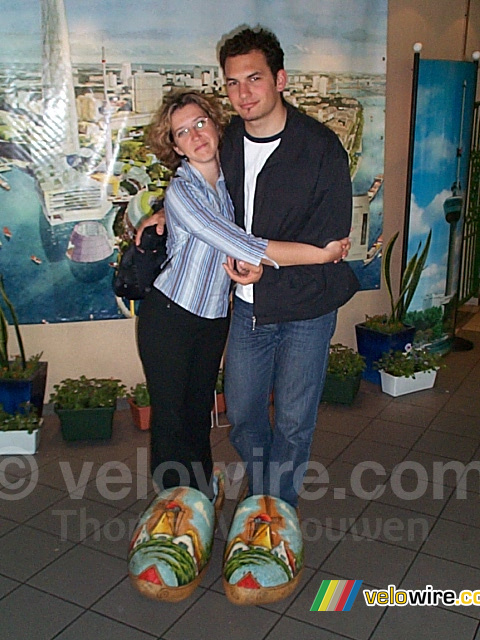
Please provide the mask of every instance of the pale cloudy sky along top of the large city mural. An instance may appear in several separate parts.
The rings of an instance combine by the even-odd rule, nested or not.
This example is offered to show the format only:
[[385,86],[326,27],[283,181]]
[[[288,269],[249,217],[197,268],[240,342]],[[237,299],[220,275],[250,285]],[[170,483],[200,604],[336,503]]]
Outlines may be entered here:
[[[65,0],[74,63],[216,64],[222,35],[261,24],[290,69],[385,73],[386,0]],[[0,62],[37,62],[41,2],[0,0]]]

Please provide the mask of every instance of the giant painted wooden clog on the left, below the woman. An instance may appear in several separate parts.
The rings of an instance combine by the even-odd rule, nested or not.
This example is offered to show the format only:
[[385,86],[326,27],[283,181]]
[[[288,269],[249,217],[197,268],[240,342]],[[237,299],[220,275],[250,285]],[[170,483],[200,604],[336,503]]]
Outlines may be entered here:
[[140,517],[128,573],[143,595],[178,602],[200,583],[210,560],[215,510],[197,489],[162,491]]

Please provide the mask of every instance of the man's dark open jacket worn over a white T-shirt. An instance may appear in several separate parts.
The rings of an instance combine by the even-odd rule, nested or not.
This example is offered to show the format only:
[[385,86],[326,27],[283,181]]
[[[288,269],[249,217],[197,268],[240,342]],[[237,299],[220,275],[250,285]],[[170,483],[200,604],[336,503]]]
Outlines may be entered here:
[[[269,240],[306,242],[324,247],[350,234],[352,184],[347,154],[336,134],[288,103],[280,145],[257,178],[252,233]],[[227,127],[221,162],[244,225],[245,127],[234,117]],[[254,285],[254,315],[259,324],[308,320],[338,309],[358,290],[347,263],[264,267]]]

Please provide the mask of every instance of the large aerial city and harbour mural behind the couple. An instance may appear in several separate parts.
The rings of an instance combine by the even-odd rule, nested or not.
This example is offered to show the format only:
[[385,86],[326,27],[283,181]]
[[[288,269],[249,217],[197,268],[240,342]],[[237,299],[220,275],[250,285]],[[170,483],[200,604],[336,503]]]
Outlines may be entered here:
[[[274,31],[287,100],[350,157],[350,260],[379,287],[387,0],[17,0],[0,21],[0,273],[22,323],[112,319],[119,248],[168,184],[143,145],[173,87],[227,105],[216,47],[239,25]],[[228,106],[228,105],[227,105]]]

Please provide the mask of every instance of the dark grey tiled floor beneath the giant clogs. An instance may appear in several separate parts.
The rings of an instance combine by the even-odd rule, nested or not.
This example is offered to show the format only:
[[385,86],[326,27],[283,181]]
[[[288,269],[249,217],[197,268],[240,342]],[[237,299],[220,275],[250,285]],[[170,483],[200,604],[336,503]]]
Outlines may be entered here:
[[[65,444],[47,415],[35,456],[0,457],[0,637],[480,640],[480,606],[368,607],[359,594],[351,612],[310,612],[329,578],[360,579],[362,589],[480,588],[480,333],[462,335],[474,349],[450,353],[433,390],[393,399],[362,383],[352,407],[321,406],[300,505],[303,580],[264,607],[236,607],[222,590],[238,483],[201,587],[179,604],[147,600],[130,586],[125,556],[153,496],[148,436],[125,410],[111,442]],[[228,428],[213,429],[212,442],[216,460],[237,460]]]

